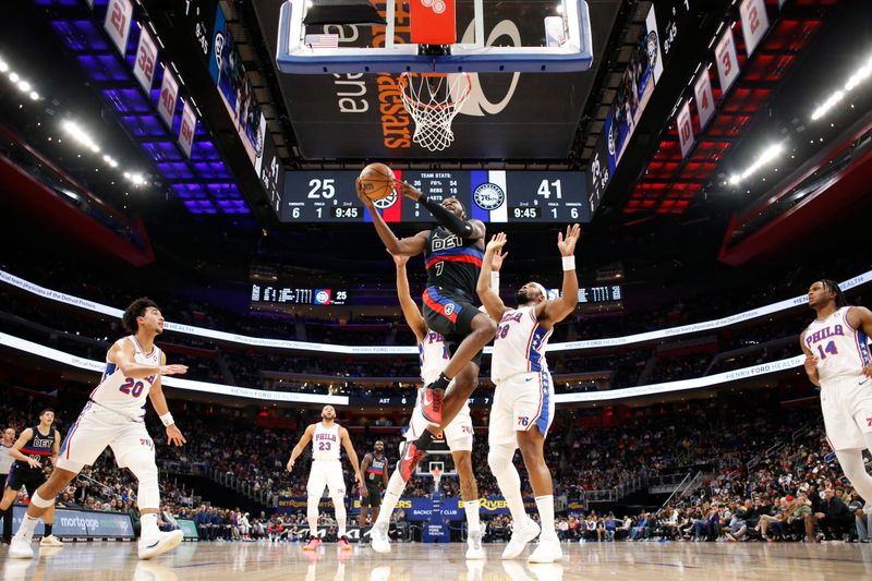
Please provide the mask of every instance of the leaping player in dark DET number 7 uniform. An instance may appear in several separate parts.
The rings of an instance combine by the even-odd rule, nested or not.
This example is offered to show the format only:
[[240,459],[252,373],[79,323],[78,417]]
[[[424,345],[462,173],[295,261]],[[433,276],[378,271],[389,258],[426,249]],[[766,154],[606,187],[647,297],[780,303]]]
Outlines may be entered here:
[[[397,239],[373,201],[361,191],[360,183],[358,197],[370,209],[378,238],[388,252],[404,256],[424,253],[427,270],[424,318],[429,329],[445,338],[451,353],[441,375],[424,386],[419,396],[424,419],[431,427],[403,449],[397,468],[408,481],[433,440],[433,434],[453,420],[479,385],[482,350],[494,338],[497,326],[473,304],[484,257],[484,222],[468,219],[467,210],[456,197],[446,197],[438,204],[405,182],[397,182],[397,187],[401,195],[427,208],[439,226],[411,238]],[[446,395],[451,379],[455,384]]]

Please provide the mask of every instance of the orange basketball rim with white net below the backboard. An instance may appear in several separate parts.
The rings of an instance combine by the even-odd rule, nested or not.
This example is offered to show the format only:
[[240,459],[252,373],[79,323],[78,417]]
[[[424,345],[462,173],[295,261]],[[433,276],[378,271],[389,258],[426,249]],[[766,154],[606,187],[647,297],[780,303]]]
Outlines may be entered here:
[[441,152],[451,145],[455,141],[451,122],[471,90],[469,73],[400,74],[402,102],[415,121],[412,141],[431,152]]

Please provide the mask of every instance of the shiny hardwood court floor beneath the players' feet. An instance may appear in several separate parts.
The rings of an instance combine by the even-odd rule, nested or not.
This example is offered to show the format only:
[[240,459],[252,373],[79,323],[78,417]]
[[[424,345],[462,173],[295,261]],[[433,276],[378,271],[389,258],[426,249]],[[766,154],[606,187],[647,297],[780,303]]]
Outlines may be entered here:
[[467,561],[465,545],[395,545],[389,555],[368,546],[340,554],[299,544],[184,543],[153,561],[136,558],[135,543],[69,543],[40,550],[33,561],[7,558],[4,581],[195,581],[220,579],[329,581],[561,581],[571,579],[872,579],[872,545],[827,543],[609,543],[564,545],[559,565],[502,561],[502,545],[485,545],[487,560]]

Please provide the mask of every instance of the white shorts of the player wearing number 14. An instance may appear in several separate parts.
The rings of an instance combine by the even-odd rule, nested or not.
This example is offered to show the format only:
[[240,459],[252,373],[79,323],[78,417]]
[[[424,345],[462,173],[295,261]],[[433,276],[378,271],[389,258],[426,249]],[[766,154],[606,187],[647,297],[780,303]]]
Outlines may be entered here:
[[872,434],[872,378],[836,378],[821,388],[821,410],[833,450],[861,450]]

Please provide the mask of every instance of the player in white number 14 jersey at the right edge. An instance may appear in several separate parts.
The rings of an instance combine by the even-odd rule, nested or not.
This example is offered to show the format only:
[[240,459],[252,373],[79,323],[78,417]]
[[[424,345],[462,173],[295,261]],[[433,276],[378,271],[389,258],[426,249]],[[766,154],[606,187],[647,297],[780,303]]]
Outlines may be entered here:
[[838,285],[826,279],[809,288],[809,306],[818,317],[799,343],[806,373],[821,387],[826,438],[851,485],[872,503],[872,476],[863,465],[863,449],[872,452],[872,312],[850,306]]

